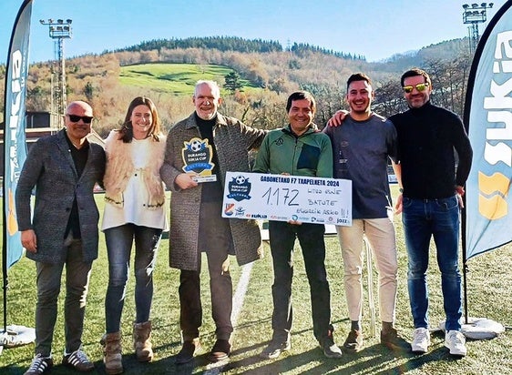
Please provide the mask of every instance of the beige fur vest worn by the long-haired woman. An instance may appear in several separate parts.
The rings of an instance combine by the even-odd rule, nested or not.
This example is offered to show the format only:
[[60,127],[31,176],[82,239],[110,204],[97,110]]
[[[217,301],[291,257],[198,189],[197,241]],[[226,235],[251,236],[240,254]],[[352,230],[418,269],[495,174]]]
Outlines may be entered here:
[[[123,192],[135,167],[130,153],[131,143],[124,143],[118,137],[118,131],[113,130],[105,142],[107,167],[103,182],[106,190],[106,202],[123,207]],[[148,189],[148,209],[159,208],[165,202],[163,183],[160,179],[160,167],[163,164],[165,145],[166,139],[164,136],[159,136],[159,142],[152,140],[149,148],[148,165],[139,170]]]

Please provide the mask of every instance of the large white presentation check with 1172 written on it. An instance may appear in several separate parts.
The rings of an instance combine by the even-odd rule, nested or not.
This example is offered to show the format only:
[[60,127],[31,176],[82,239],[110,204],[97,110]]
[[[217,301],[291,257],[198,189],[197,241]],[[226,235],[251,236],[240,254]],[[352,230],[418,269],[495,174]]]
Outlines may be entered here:
[[352,181],[227,172],[222,217],[351,226]]

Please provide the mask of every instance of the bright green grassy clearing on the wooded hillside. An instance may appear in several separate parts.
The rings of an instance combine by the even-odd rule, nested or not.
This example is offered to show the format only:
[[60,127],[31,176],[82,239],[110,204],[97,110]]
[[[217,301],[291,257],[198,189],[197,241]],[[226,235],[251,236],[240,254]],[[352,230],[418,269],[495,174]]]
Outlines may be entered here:
[[[228,66],[196,64],[140,64],[121,66],[119,82],[122,85],[151,87],[160,92],[176,96],[191,96],[200,79],[217,81],[224,85],[224,76],[233,71]],[[241,79],[244,90],[254,88],[246,79]]]

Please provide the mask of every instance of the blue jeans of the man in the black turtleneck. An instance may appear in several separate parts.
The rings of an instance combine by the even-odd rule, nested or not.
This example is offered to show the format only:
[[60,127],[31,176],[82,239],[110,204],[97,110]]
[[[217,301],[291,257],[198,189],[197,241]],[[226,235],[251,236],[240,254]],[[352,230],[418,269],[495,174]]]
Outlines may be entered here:
[[434,237],[446,315],[446,330],[460,330],[461,278],[458,268],[459,208],[456,196],[440,199],[404,198],[402,213],[409,257],[407,284],[415,328],[428,327],[426,269]]

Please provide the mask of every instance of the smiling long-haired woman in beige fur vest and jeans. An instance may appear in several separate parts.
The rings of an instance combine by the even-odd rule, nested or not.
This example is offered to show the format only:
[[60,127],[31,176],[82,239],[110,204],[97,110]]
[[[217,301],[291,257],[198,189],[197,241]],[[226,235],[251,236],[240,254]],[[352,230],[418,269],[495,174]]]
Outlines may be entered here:
[[168,230],[164,187],[159,177],[165,145],[157,108],[142,96],[132,100],[123,126],[112,130],[105,143],[106,204],[101,229],[107,243],[108,289],[105,298],[107,332],[101,343],[108,374],[123,372],[120,320],[134,239],[137,316],[133,325],[133,346],[139,361],[153,359],[149,341],[152,275],[162,231]]

